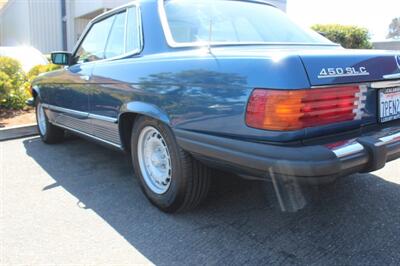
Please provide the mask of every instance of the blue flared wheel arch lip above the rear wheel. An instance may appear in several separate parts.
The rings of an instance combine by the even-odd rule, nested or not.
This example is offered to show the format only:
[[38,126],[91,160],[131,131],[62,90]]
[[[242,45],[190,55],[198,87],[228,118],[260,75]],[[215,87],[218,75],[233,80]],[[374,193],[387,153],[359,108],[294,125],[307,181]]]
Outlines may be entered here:
[[170,119],[167,113],[150,103],[135,101],[124,104],[121,107],[118,120],[120,121],[121,116],[123,116],[126,113],[135,113],[135,114],[149,116],[154,119],[160,120],[167,125],[170,125]]

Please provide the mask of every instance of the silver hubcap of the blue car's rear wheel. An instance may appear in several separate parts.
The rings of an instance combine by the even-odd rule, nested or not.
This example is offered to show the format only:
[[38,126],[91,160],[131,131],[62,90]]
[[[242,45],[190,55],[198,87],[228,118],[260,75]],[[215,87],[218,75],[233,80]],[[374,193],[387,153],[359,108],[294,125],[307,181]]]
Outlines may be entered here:
[[146,185],[156,194],[167,192],[171,184],[171,157],[161,133],[145,127],[139,135],[138,161]]

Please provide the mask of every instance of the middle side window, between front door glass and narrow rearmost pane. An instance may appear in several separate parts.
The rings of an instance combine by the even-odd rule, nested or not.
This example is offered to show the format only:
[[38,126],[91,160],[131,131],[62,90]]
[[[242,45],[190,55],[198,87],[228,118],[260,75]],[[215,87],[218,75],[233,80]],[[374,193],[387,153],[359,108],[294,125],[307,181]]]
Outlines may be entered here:
[[115,15],[114,24],[108,37],[105,58],[119,56],[125,53],[125,18],[126,12]]

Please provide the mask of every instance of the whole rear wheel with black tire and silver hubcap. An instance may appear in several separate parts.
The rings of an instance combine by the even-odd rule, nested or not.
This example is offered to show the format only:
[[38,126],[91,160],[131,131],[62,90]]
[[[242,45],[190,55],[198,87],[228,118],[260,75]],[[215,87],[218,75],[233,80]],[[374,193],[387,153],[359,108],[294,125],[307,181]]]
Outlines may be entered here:
[[139,117],[132,130],[131,148],[142,190],[159,209],[189,210],[207,196],[211,170],[182,150],[163,123]]

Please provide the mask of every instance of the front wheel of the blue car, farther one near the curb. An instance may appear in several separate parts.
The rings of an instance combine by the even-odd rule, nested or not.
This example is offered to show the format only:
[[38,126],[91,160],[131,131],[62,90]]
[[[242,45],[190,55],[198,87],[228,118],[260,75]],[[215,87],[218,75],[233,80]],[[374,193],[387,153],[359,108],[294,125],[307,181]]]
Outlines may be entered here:
[[64,138],[64,130],[52,125],[46,116],[42,103],[36,100],[36,122],[40,138],[47,144],[61,142]]

